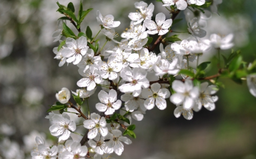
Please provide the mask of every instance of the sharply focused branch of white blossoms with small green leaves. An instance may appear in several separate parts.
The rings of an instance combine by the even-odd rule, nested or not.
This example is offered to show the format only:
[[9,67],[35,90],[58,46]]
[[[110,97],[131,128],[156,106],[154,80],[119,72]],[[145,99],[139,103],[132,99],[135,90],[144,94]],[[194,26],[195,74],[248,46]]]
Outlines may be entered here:
[[[36,137],[38,145],[31,151],[32,158],[110,158],[111,153],[121,155],[124,151],[123,143],[132,143],[125,135],[136,138],[132,119],[142,121],[146,111],[155,106],[160,110],[166,109],[167,100],[176,105],[174,115],[177,118],[182,114],[185,119],[190,120],[193,118],[193,111],[199,111],[203,106],[210,111],[214,110],[214,102],[218,100],[214,94],[221,86],[218,78],[222,76],[237,83],[241,83],[247,76],[250,92],[256,96],[256,61],[247,65],[240,51],[237,51],[228,58],[222,55],[224,63],[221,63],[220,51],[233,47],[233,35],[213,33],[209,39],[201,39],[207,33],[204,28],[212,14],[205,8],[211,7],[214,8],[213,12],[217,12],[217,1],[158,2],[163,3],[170,15],[160,12],[155,15],[155,20],[151,20],[154,5],[136,2],[134,6],[138,11],[128,15],[130,26],[121,34],[121,41],[114,39],[118,36],[114,28],[121,22],[115,21],[113,15],[104,16],[97,11],[100,31],[93,37],[90,27],[85,32],[80,29],[82,21],[92,8],[83,10],[80,4],[79,14],[75,16],[72,2],[68,6],[57,3],[57,11],[64,16],[58,21],[60,27],[53,33],[54,41],[60,41],[59,47],[54,48],[53,52],[56,54],[55,58],[60,59],[59,66],[66,62],[77,65],[82,78],[77,81],[80,89],[72,91],[76,104],[70,101],[69,89],[63,88],[56,93],[58,102],[48,110],[46,118],[53,123],[49,131],[59,138],[59,144],[57,147],[46,147],[42,137]],[[179,22],[175,18],[181,10],[185,10],[188,25],[186,32],[191,34],[185,40],[181,40],[179,35],[172,35],[175,33],[172,26]],[[79,32],[77,35],[65,20],[76,27]],[[102,46],[97,39],[99,33],[106,37]],[[156,34],[159,37],[153,42],[150,35]],[[61,37],[63,40],[60,40]],[[106,44],[109,41],[113,41],[115,46],[108,48]],[[156,47],[159,47],[160,52],[155,51]],[[210,48],[217,50],[218,72],[206,76],[205,69],[212,64],[199,63],[199,58]],[[190,62],[196,62],[196,67],[191,67]],[[89,97],[94,95],[96,89],[101,88],[98,93],[100,102],[95,106],[99,112],[90,113]],[[88,106],[87,116],[81,111],[82,105]],[[70,119],[68,113],[71,112],[67,108],[75,109],[77,117],[84,118],[84,135],[75,132],[76,123]],[[53,110],[60,110],[60,114],[53,113]],[[71,133],[82,135],[82,140],[72,140]]]

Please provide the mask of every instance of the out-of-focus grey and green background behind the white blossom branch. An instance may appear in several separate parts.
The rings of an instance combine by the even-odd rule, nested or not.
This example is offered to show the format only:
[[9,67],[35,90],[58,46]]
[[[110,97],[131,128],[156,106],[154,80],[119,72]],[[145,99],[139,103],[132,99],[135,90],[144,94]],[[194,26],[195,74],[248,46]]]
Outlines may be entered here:
[[[0,129],[2,158],[5,158],[3,147],[7,145],[6,137],[19,144],[26,154],[23,158],[31,158],[29,145],[24,142],[26,135],[30,134],[33,138],[33,135],[43,132],[47,139],[56,143],[56,137],[52,137],[48,130],[51,124],[44,118],[46,110],[49,109],[48,105],[56,101],[56,91],[63,87],[72,91],[78,88],[76,82],[81,76],[77,66],[58,67],[59,61],[53,59],[55,54],[52,49],[59,43],[53,43],[51,35],[57,28],[57,19],[61,17],[56,12],[55,2],[0,1],[0,125],[7,124],[15,130],[11,134],[11,130],[3,126]],[[67,5],[69,1],[59,2]],[[100,29],[96,22],[96,11],[100,10],[102,15],[112,14],[115,20],[121,22],[115,29],[121,34],[130,23],[127,15],[136,11],[134,2],[137,1],[82,1],[84,8],[94,10],[86,16],[81,30],[85,31],[89,25],[93,36],[96,35]],[[162,3],[144,2],[154,3],[154,16],[158,12],[168,15]],[[78,10],[79,1],[73,3]],[[255,7],[256,1],[225,0],[218,8],[220,16],[213,14],[212,20],[208,22],[208,36],[210,33],[234,33],[234,50],[241,49],[247,62],[254,61],[256,57]],[[177,18],[184,18],[183,12]],[[174,30],[184,31],[186,28],[186,22],[183,21]],[[182,39],[187,36],[180,35]],[[100,37],[104,36],[101,34]],[[216,61],[214,52],[209,53],[212,61]],[[222,53],[227,56],[230,52]],[[208,74],[216,73],[214,67],[208,71]],[[225,78],[221,81],[225,88],[217,93],[219,100],[215,110],[203,108],[194,113],[191,121],[183,117],[175,118],[175,105],[170,101],[164,111],[157,108],[147,111],[143,121],[133,121],[137,126],[137,139],[131,139],[133,144],[125,145],[122,156],[116,158],[256,158],[256,98],[249,93],[246,81],[242,85]],[[90,98],[91,112],[97,112],[94,108],[97,102],[95,94]],[[82,121],[76,122],[79,124]],[[84,130],[79,131],[82,133]],[[73,137],[77,140],[81,138]],[[31,139],[32,145],[33,142],[34,139]]]

